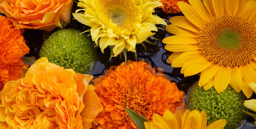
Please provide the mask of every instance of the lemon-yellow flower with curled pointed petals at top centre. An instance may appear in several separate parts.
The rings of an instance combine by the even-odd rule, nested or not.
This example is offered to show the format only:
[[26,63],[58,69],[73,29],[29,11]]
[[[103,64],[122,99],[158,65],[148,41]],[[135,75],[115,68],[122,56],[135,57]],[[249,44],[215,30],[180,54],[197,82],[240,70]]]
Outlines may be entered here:
[[92,40],[102,53],[108,46],[114,56],[126,50],[135,52],[136,44],[155,34],[151,31],[157,31],[156,24],[166,25],[162,18],[152,14],[154,8],[163,6],[160,0],[79,1],[78,6],[84,9],[76,10],[73,16],[78,22],[92,27]]

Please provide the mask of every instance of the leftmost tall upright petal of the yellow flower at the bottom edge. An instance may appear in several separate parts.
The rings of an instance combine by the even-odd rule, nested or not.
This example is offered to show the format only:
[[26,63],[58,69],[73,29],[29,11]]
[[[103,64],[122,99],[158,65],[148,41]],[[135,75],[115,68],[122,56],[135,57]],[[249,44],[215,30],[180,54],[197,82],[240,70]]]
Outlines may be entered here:
[[179,128],[178,121],[172,112],[170,112],[168,110],[165,111],[163,114],[163,119],[169,129],[170,128]]

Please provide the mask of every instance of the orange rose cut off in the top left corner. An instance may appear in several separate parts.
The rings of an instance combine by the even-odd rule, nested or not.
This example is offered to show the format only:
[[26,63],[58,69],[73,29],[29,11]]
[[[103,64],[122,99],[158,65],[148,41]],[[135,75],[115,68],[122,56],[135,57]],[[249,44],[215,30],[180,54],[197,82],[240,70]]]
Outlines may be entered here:
[[73,0],[0,0],[0,12],[17,28],[51,31],[66,26]]

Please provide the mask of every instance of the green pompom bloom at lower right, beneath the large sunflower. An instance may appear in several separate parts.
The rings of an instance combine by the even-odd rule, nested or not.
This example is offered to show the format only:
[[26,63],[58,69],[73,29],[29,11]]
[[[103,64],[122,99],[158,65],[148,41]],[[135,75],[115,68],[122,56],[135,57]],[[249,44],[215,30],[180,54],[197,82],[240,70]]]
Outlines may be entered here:
[[189,110],[205,111],[207,123],[210,124],[218,119],[226,119],[225,128],[236,128],[246,118],[243,102],[245,96],[228,87],[222,93],[217,93],[214,88],[205,91],[194,83],[188,92],[187,108]]

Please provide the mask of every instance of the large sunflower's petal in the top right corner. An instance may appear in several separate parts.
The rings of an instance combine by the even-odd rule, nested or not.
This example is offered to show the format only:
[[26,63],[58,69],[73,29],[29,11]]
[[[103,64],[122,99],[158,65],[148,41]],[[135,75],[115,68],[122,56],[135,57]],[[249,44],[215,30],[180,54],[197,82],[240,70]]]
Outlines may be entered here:
[[[241,12],[241,15],[246,18],[246,19],[249,19],[250,15],[255,11],[256,11],[256,1],[255,0],[249,0],[246,5],[244,6],[244,9],[243,11]],[[254,19],[255,20],[255,17]],[[248,21],[248,22],[251,22],[251,21]]]

